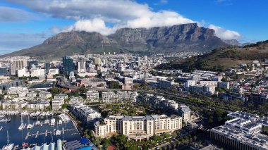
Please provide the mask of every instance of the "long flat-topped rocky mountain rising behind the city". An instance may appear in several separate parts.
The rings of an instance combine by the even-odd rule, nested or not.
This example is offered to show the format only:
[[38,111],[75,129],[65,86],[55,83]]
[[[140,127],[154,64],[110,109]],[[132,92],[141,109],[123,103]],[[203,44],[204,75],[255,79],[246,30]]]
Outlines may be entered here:
[[60,57],[72,54],[110,52],[170,53],[178,51],[211,51],[226,46],[214,30],[198,27],[196,23],[171,27],[121,28],[107,37],[97,32],[61,32],[43,44],[5,56]]

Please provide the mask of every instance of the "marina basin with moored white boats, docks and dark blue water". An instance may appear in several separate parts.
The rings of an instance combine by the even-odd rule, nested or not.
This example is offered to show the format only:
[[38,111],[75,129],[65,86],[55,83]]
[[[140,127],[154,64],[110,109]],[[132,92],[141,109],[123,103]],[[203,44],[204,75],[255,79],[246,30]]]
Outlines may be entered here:
[[[59,114],[61,116],[59,117],[59,115],[52,116],[52,113],[49,113],[49,115],[44,115],[44,118],[40,118],[39,116],[30,117],[31,113],[25,114],[14,112],[13,115],[11,113],[1,114],[4,115],[2,116],[4,118],[10,118],[11,123],[0,123],[0,137],[4,137],[0,138],[0,149],[7,145],[5,138],[7,131],[10,143],[19,146],[22,146],[23,143],[42,145],[46,142],[56,142],[57,139],[63,141],[80,139],[80,135],[68,115]],[[41,114],[39,113],[39,115]]]

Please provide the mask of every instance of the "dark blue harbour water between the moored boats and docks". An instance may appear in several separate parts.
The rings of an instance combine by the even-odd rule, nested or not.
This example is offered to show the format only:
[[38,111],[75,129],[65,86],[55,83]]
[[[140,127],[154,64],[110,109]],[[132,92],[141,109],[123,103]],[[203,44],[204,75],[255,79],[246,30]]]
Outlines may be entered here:
[[[44,120],[46,118],[39,118],[39,121],[42,121],[44,123]],[[49,117],[49,120],[51,119],[51,117]],[[56,123],[58,123],[58,118],[56,119]],[[35,118],[30,118],[30,123],[35,123],[37,121],[37,119]],[[24,116],[23,117],[23,123],[27,123],[28,124],[28,116]],[[27,142],[29,144],[37,144],[37,145],[42,145],[42,143],[51,143],[51,142],[55,142],[58,139],[61,140],[66,140],[66,141],[73,141],[75,139],[79,140],[81,137],[78,134],[78,131],[75,130],[75,127],[73,126],[73,123],[71,121],[69,121],[68,123],[62,124],[62,125],[54,125],[54,127],[51,127],[50,125],[42,125],[41,126],[36,126],[33,127],[32,129],[28,130],[23,129],[23,130],[18,130],[18,127],[20,126],[20,115],[11,115],[11,123],[0,123],[0,127],[3,126],[3,129],[0,131],[0,149],[7,144],[7,130],[8,130],[8,135],[9,135],[9,139],[10,139],[10,143],[14,143],[15,145],[20,145],[23,144],[23,142]],[[29,136],[28,139],[25,139],[26,135],[28,134],[28,132],[30,132],[30,135],[32,134],[36,134],[37,131],[39,131],[39,133],[41,132],[45,132],[46,130],[48,130],[48,132],[57,130],[57,128],[59,130],[62,130],[62,127],[64,127],[64,130],[68,129],[70,131],[66,131],[64,133],[64,135],[61,132],[60,136],[56,136],[56,135],[51,135],[50,133],[47,134],[47,137],[45,137],[44,135],[38,135],[37,138],[35,138],[35,136]],[[53,137],[53,141],[52,141],[52,137]]]

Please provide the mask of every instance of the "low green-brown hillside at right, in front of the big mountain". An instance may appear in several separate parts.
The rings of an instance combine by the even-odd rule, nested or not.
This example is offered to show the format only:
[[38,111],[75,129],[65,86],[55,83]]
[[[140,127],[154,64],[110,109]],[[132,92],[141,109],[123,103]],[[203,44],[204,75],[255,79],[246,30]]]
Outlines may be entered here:
[[240,63],[250,63],[255,60],[264,61],[265,58],[268,58],[268,40],[240,48],[215,49],[211,53],[202,56],[158,65],[157,69],[223,71],[226,68],[237,68]]

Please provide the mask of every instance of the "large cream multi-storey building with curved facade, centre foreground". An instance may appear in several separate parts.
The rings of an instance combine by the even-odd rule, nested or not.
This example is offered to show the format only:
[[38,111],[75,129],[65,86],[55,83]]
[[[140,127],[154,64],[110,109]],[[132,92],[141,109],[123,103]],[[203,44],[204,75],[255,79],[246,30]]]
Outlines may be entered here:
[[136,141],[149,139],[154,135],[164,133],[171,134],[173,131],[181,129],[182,118],[177,115],[110,115],[104,121],[95,123],[95,135],[97,137],[108,137],[114,133],[126,135],[128,139]]

